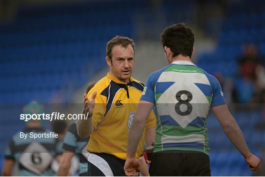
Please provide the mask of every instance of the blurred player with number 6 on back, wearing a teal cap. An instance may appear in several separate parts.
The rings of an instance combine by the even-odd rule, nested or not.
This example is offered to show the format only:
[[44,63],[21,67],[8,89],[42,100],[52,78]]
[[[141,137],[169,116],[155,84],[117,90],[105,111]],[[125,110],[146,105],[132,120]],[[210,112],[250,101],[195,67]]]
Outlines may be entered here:
[[[32,101],[24,107],[24,114],[42,114],[43,107]],[[39,120],[30,120],[24,133],[50,133],[42,128]],[[15,162],[18,163],[18,176],[54,176],[51,163],[56,153],[56,138],[21,138],[20,132],[16,133],[5,151],[3,176],[11,176]]]

